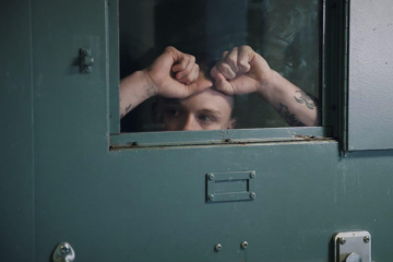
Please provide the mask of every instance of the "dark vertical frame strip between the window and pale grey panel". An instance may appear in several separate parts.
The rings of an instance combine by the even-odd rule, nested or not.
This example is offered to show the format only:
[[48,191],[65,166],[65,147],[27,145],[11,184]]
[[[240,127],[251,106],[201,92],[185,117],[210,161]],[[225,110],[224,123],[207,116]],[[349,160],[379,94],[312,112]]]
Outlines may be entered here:
[[325,0],[323,126],[333,127],[341,152],[347,151],[349,0]]

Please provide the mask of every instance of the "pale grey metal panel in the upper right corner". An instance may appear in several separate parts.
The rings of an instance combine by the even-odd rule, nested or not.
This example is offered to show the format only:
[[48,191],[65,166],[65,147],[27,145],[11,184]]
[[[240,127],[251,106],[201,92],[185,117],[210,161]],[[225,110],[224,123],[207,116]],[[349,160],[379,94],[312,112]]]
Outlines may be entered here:
[[349,151],[393,148],[393,4],[350,1]]

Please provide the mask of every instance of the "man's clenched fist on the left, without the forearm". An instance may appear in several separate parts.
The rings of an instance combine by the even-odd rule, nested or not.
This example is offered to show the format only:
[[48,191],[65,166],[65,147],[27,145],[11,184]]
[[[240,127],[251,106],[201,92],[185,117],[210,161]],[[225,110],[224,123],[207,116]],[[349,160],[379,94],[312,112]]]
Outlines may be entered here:
[[147,92],[151,95],[186,98],[213,85],[200,75],[195,58],[175,47],[167,47],[143,72],[146,74]]

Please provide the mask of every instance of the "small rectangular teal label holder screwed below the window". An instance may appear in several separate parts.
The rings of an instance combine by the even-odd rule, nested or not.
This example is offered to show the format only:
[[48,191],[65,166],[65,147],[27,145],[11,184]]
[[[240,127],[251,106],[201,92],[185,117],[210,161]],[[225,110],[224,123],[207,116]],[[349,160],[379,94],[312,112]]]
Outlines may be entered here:
[[254,200],[255,171],[206,174],[206,202]]

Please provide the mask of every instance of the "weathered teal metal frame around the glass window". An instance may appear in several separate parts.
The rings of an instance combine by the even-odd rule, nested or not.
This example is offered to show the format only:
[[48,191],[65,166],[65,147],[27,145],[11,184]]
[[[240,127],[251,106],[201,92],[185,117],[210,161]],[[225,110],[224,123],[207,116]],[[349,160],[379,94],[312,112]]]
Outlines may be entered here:
[[[346,106],[344,95],[343,74],[344,64],[342,56],[345,52],[343,35],[345,31],[345,16],[342,19],[343,4],[338,0],[323,0],[321,4],[321,102],[322,127],[313,128],[270,128],[248,130],[219,130],[219,131],[178,131],[178,132],[145,132],[120,133],[119,116],[119,29],[118,29],[118,0],[108,0],[107,29],[108,29],[108,133],[110,148],[132,148],[145,146],[168,145],[201,145],[226,143],[254,143],[272,141],[301,141],[315,138],[335,138],[344,142],[345,122],[343,109]],[[334,8],[335,7],[335,8]],[[345,7],[344,7],[345,8]],[[116,98],[114,98],[116,97]],[[345,96],[346,97],[346,96]]]

